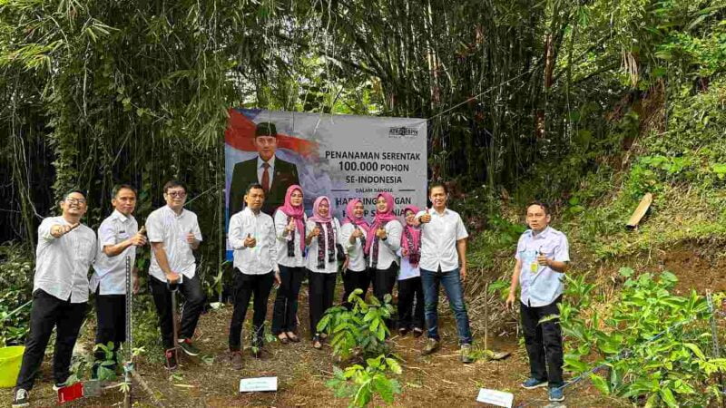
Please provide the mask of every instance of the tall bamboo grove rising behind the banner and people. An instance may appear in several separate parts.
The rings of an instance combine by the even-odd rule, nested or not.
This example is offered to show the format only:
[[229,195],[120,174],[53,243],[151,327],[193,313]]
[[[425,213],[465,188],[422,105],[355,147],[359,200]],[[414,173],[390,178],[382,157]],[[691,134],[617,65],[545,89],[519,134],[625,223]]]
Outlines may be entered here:
[[[624,105],[722,72],[678,39],[718,48],[724,2],[685,3],[2,0],[2,240],[33,248],[72,187],[88,190],[93,228],[120,181],[140,188],[144,219],[178,177],[216,274],[234,106],[430,118],[430,179],[482,202],[532,174],[575,188],[641,131]],[[573,177],[544,159],[573,160]]]

